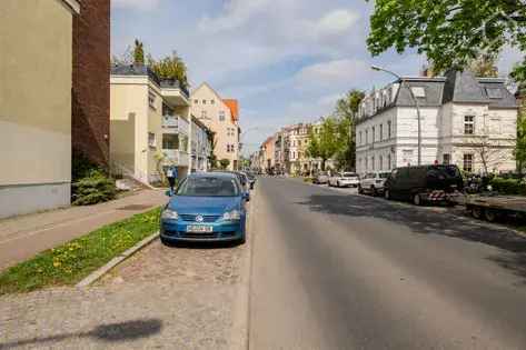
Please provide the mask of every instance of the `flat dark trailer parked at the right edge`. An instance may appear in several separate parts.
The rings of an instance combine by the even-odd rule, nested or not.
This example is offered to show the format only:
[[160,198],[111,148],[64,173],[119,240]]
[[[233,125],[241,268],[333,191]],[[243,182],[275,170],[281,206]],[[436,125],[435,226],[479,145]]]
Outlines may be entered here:
[[526,217],[526,197],[497,193],[468,194],[466,210],[475,219],[494,222],[499,217]]

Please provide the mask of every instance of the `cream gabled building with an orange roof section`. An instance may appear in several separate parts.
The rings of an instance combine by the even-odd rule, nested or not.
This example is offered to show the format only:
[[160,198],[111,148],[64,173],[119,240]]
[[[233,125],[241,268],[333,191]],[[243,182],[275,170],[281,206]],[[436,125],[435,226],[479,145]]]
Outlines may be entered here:
[[217,160],[228,159],[228,169],[238,169],[240,129],[237,101],[222,99],[205,82],[191,93],[191,114],[215,133]]

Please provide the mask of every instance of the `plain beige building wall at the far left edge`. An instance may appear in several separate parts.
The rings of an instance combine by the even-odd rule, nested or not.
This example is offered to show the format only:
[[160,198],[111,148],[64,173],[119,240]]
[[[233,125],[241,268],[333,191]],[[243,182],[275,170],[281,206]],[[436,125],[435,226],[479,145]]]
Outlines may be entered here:
[[0,217],[9,217],[70,203],[72,21],[80,7],[1,6]]

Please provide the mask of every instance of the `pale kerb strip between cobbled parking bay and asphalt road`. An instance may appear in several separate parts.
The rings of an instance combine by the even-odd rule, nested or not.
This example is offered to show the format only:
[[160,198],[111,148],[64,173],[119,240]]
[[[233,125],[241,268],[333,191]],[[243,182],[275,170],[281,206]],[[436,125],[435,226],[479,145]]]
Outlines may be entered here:
[[[249,208],[248,234],[246,247],[248,248],[242,257],[240,267],[239,288],[236,292],[236,299],[232,310],[232,328],[230,330],[230,347],[234,350],[246,350],[249,348],[249,323],[250,323],[250,284],[252,270],[252,249],[254,249],[254,218],[255,208],[259,196],[259,187],[256,184],[256,191]],[[236,300],[238,302],[236,302]]]

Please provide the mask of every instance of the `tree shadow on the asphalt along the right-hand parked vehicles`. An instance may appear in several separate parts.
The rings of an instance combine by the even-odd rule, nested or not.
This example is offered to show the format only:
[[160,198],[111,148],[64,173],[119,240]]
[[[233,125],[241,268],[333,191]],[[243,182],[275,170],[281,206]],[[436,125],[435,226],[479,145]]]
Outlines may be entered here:
[[312,194],[299,204],[322,213],[383,219],[407,226],[415,233],[441,234],[493,246],[503,249],[503,254],[487,259],[526,279],[526,238],[505,227],[489,228],[462,216],[399,207],[361,196]]

